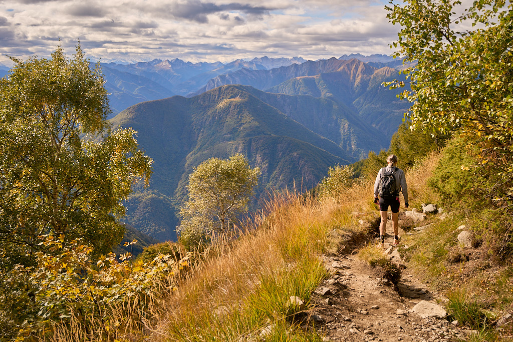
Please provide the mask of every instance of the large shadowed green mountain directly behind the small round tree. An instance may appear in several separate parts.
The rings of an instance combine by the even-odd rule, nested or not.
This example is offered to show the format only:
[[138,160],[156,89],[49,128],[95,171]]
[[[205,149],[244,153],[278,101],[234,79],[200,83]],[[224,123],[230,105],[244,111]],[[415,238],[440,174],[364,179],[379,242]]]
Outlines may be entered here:
[[111,120],[132,127],[154,159],[148,189],[127,203],[127,223],[158,239],[175,239],[175,216],[188,175],[211,157],[243,153],[262,170],[258,197],[271,189],[317,185],[328,167],[387,145],[380,132],[333,99],[223,86],[186,98],[137,104]]

